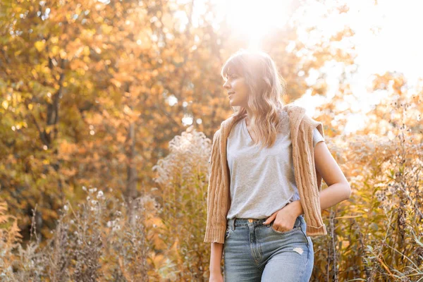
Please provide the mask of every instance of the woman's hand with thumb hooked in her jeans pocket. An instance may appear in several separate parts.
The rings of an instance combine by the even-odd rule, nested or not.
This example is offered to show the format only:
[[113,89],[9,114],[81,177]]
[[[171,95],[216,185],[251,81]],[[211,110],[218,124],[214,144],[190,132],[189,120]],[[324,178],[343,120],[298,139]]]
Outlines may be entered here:
[[274,230],[279,232],[290,231],[294,228],[295,220],[299,215],[297,206],[292,202],[274,212],[263,222],[263,225],[271,223],[276,218],[273,224]]

